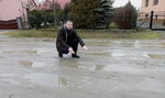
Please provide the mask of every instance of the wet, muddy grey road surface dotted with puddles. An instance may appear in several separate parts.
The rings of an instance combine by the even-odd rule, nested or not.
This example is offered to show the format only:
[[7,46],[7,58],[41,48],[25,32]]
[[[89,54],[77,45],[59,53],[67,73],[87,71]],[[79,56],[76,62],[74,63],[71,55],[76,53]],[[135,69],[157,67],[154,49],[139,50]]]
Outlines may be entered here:
[[80,59],[54,42],[0,35],[0,98],[165,98],[165,40],[85,40]]

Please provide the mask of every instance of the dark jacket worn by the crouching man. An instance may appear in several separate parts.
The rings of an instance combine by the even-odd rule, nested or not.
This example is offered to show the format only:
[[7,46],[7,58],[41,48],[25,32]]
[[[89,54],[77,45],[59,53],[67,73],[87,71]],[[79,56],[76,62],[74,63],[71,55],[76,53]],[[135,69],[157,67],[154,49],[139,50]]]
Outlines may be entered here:
[[[68,34],[69,34],[69,37],[68,37]],[[72,40],[68,40],[68,39],[72,39]],[[75,30],[70,30],[68,33],[67,29],[63,26],[57,33],[56,47],[57,47],[58,53],[63,54],[64,51],[68,51],[68,48],[72,47],[67,43],[73,43],[73,42],[68,42],[68,41],[77,41],[78,43],[80,43],[81,46],[85,45],[84,41],[76,33]]]

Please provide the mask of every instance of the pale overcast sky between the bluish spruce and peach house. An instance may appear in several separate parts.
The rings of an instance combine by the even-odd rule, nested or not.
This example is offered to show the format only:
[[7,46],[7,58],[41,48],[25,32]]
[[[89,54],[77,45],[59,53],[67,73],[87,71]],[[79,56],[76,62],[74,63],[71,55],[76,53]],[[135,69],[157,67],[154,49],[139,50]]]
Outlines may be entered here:
[[[141,0],[130,0],[130,1],[136,9],[140,9]],[[128,2],[129,0],[114,0],[113,7],[122,7]]]

